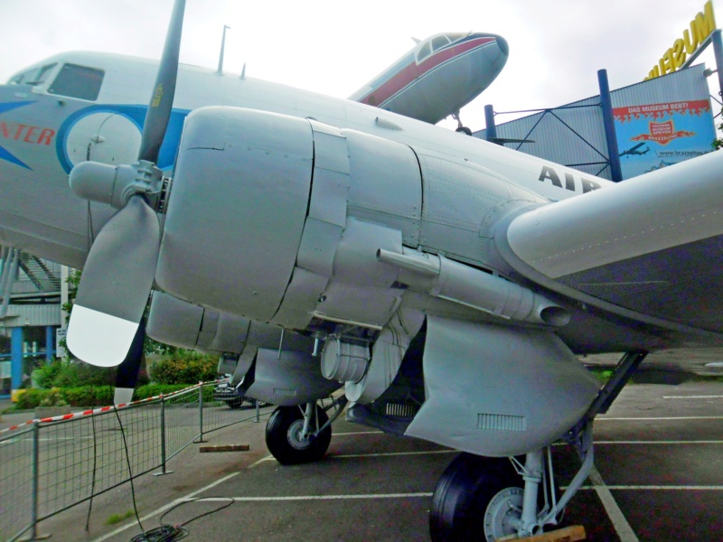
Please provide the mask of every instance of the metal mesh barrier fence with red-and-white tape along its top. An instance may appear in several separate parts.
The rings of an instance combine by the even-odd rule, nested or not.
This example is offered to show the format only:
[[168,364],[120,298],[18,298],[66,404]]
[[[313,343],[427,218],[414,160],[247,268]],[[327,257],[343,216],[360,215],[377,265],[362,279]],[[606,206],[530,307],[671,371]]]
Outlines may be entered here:
[[[33,420],[0,433],[0,540],[166,463],[203,435],[255,410],[212,400],[213,386]],[[253,406],[251,406],[253,408]]]

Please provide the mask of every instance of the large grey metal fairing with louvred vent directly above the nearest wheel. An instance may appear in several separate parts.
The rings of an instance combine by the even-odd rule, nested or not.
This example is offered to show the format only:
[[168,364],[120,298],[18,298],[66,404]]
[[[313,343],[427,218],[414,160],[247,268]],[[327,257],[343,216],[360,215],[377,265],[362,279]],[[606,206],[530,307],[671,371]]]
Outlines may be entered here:
[[437,317],[427,318],[424,372],[427,400],[407,435],[490,456],[559,438],[599,388],[552,332]]

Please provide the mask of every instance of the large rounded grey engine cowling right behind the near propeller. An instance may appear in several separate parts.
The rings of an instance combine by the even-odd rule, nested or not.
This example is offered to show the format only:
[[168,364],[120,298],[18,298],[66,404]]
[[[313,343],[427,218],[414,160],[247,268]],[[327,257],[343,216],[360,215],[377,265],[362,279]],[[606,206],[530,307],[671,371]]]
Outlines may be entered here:
[[[352,195],[370,190],[353,187],[365,184],[382,190],[389,224],[349,215]],[[401,252],[420,194],[408,145],[313,120],[202,108],[186,119],[155,280],[180,299],[286,328],[315,317],[381,328],[403,289],[376,252]]]

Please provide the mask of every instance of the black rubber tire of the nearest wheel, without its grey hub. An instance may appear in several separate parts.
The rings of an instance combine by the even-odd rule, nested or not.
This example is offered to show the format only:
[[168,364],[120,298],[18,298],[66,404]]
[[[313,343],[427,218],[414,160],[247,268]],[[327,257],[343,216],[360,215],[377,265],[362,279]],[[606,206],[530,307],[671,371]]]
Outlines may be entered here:
[[429,533],[433,542],[484,540],[484,512],[493,497],[523,481],[506,457],[460,453],[449,463],[432,495]]

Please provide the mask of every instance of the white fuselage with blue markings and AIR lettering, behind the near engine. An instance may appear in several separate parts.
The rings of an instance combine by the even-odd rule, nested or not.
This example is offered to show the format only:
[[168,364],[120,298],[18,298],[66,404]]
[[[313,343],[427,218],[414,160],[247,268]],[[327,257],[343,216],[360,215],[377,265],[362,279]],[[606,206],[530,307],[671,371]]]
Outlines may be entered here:
[[[0,87],[0,244],[82,267],[95,234],[114,210],[73,195],[68,173],[85,160],[136,160],[156,69],[155,61],[71,52],[39,62],[24,70],[24,77],[15,76],[14,84]],[[24,84],[28,79],[33,84]],[[377,107],[188,65],[179,70],[160,167],[173,169],[185,116],[211,105],[311,117],[428,149],[514,180],[544,201],[610,184]]]

